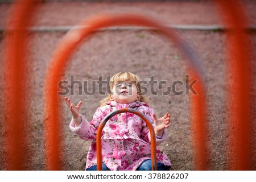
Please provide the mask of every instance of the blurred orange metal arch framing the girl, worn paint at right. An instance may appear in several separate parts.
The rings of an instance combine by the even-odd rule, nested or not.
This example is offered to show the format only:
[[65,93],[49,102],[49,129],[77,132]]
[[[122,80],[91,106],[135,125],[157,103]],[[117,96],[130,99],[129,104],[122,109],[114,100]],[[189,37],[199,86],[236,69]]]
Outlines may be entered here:
[[[206,104],[204,100],[204,87],[203,87],[203,72],[200,69],[199,61],[195,55],[192,53],[192,49],[189,48],[188,44],[184,42],[177,34],[177,32],[168,27],[164,27],[163,23],[159,23],[157,20],[152,18],[146,18],[141,15],[134,14],[102,14],[96,15],[84,22],[81,22],[79,26],[86,26],[86,28],[75,29],[69,31],[64,38],[61,40],[59,46],[53,53],[51,63],[47,70],[45,95],[44,95],[44,114],[45,114],[45,126],[46,126],[46,137],[45,142],[47,151],[47,163],[49,164],[49,169],[56,169],[59,165],[59,149],[60,146],[60,115],[59,115],[59,101],[57,92],[59,91],[57,84],[61,80],[61,76],[65,71],[65,65],[69,61],[72,51],[79,46],[79,44],[86,37],[92,34],[92,32],[98,31],[100,28],[110,27],[110,26],[144,26],[144,27],[154,27],[160,33],[165,35],[168,40],[171,40],[176,44],[187,57],[188,65],[192,68],[193,79],[199,80],[197,85],[200,85],[196,90],[199,93],[198,96],[193,96],[193,102],[191,103],[191,115],[192,125],[195,123],[200,123],[194,128],[198,127],[199,132],[194,132],[196,140],[196,163],[200,164],[196,168],[203,170],[207,169],[207,155],[200,155],[201,152],[207,152],[207,127],[205,126],[205,110]],[[199,109],[200,108],[200,111]],[[202,143],[200,143],[202,142]]]

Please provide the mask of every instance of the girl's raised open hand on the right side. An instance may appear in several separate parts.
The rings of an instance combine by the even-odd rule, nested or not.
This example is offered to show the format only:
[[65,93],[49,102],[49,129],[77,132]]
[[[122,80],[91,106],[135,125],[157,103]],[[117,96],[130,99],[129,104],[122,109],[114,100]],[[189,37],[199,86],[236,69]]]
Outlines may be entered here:
[[169,123],[171,122],[171,115],[166,113],[162,118],[158,119],[155,113],[152,114],[155,120],[155,135],[161,136],[163,134],[163,130],[169,127]]

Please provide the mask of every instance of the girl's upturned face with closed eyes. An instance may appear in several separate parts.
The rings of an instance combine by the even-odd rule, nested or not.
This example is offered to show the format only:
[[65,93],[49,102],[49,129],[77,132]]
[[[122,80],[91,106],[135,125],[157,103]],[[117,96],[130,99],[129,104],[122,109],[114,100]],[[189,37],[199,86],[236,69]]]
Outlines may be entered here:
[[129,104],[137,100],[137,86],[134,82],[115,82],[112,91],[112,98],[115,102]]

